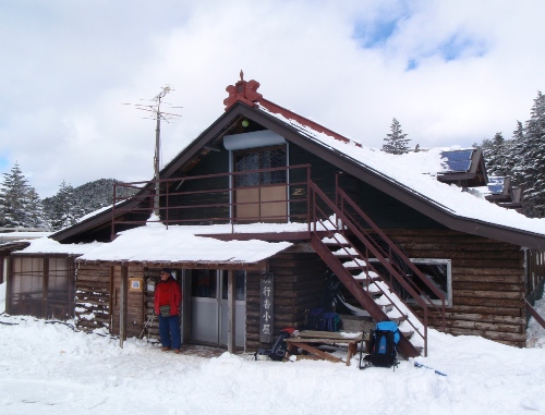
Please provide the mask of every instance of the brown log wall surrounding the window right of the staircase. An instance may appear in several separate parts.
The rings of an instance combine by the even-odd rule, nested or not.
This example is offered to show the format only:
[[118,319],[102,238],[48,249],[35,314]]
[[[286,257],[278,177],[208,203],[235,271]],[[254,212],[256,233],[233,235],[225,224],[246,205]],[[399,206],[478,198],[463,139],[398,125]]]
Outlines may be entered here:
[[448,333],[525,346],[524,253],[520,246],[449,230],[386,233],[409,257],[451,260]]

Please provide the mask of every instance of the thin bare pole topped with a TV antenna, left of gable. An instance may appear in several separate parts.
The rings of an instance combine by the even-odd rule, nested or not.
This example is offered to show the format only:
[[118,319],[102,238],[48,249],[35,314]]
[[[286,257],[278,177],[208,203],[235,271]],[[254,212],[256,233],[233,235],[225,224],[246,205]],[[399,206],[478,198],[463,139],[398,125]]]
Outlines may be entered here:
[[[160,160],[160,148],[161,148],[161,121],[170,122],[175,117],[182,117],[172,112],[165,112],[161,110],[161,105],[168,105],[168,108],[183,108],[183,107],[172,107],[170,103],[165,102],[164,99],[167,94],[173,91],[170,85],[161,86],[161,91],[157,94],[153,99],[147,99],[147,101],[154,102],[149,103],[123,103],[124,106],[133,106],[137,110],[153,112],[154,115],[143,117],[147,120],[155,120],[155,155],[154,155],[154,174],[155,174],[155,196],[154,196],[154,213],[157,217],[159,215],[159,160]],[[144,100],[144,99],[142,99]]]

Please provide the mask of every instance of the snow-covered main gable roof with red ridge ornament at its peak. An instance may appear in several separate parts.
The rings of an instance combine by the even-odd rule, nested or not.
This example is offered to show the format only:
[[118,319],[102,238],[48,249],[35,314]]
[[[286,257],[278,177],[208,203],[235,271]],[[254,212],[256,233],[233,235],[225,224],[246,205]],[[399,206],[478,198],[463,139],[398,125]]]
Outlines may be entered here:
[[[266,100],[256,93],[258,86],[255,81],[243,81],[241,74],[241,81],[227,88],[230,96],[223,101],[226,112],[174,157],[161,170],[160,178],[170,178],[189,170],[201,157],[213,150],[225,135],[233,134],[243,119],[250,119],[449,229],[545,249],[544,220],[525,218],[513,210],[491,204],[484,197],[475,197],[460,187],[440,183],[437,173],[441,171],[444,149],[388,155],[365,147]],[[476,172],[482,155],[479,151],[473,155],[481,160],[474,164]],[[59,231],[51,237],[63,241],[110,220],[111,209]]]

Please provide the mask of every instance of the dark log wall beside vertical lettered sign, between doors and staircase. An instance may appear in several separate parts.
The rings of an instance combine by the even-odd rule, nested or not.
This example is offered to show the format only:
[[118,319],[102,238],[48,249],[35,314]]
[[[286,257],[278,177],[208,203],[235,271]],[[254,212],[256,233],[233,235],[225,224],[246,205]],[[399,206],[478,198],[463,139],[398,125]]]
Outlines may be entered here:
[[[281,253],[268,260],[274,274],[274,333],[284,327],[301,327],[305,310],[322,306],[326,265],[313,253]],[[259,342],[261,273],[246,273],[246,351],[267,347]]]

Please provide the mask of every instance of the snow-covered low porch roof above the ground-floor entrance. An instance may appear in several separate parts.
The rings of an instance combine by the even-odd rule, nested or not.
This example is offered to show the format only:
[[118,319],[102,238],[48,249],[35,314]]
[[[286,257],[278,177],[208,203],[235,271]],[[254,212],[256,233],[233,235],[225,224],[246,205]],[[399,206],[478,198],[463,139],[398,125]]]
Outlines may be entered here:
[[[301,223],[238,225],[237,232],[292,232],[304,230]],[[29,241],[31,245],[21,254],[83,254],[85,261],[149,261],[149,263],[221,263],[255,264],[266,259],[292,244],[265,241],[219,241],[205,234],[230,233],[231,225],[165,227],[148,222],[145,227],[120,232],[110,243],[61,244],[44,237]],[[198,234],[198,235],[197,235]]]

